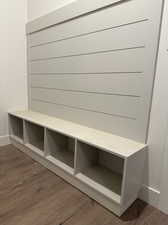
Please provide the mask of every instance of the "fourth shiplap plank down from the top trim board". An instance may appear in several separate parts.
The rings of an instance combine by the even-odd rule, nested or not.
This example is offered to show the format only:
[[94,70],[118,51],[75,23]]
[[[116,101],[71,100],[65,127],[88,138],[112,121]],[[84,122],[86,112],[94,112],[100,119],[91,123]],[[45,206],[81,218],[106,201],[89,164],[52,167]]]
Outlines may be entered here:
[[30,81],[31,87],[141,96],[143,76],[138,73],[32,75]]

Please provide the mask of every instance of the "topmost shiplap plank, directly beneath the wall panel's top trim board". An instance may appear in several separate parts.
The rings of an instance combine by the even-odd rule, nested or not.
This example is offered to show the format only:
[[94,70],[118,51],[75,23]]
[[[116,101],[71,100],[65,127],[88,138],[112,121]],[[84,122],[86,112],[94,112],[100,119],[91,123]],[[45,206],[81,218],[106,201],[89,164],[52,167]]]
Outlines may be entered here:
[[[91,3],[89,2],[89,4]],[[148,20],[149,15],[147,11],[148,8],[145,7],[144,1],[127,1],[121,5],[109,7],[28,35],[29,46]]]

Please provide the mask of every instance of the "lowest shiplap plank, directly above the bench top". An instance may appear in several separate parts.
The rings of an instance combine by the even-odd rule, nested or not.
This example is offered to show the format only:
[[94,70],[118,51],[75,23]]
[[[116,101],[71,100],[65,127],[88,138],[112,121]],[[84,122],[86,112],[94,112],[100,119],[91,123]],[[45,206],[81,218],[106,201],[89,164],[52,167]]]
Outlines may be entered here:
[[[142,132],[141,124],[138,124],[137,120],[67,108],[66,106],[34,100],[31,100],[31,110],[110,132],[121,137],[134,137],[134,140],[139,142],[143,142],[145,138],[145,133]],[[137,130],[136,133],[134,132],[135,130]]]

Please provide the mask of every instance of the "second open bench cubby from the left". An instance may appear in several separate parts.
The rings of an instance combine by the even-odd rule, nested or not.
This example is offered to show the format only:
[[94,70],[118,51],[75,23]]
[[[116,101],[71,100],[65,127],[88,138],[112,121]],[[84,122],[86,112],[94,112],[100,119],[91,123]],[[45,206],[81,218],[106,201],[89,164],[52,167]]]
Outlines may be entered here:
[[26,144],[33,150],[44,151],[44,127],[25,121]]

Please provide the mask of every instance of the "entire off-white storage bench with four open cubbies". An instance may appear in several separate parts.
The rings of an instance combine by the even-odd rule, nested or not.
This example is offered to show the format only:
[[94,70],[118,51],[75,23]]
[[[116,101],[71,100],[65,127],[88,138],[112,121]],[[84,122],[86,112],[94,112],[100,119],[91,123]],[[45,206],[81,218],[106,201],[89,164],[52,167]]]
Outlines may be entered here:
[[146,145],[33,111],[9,113],[11,143],[117,214],[137,199]]

